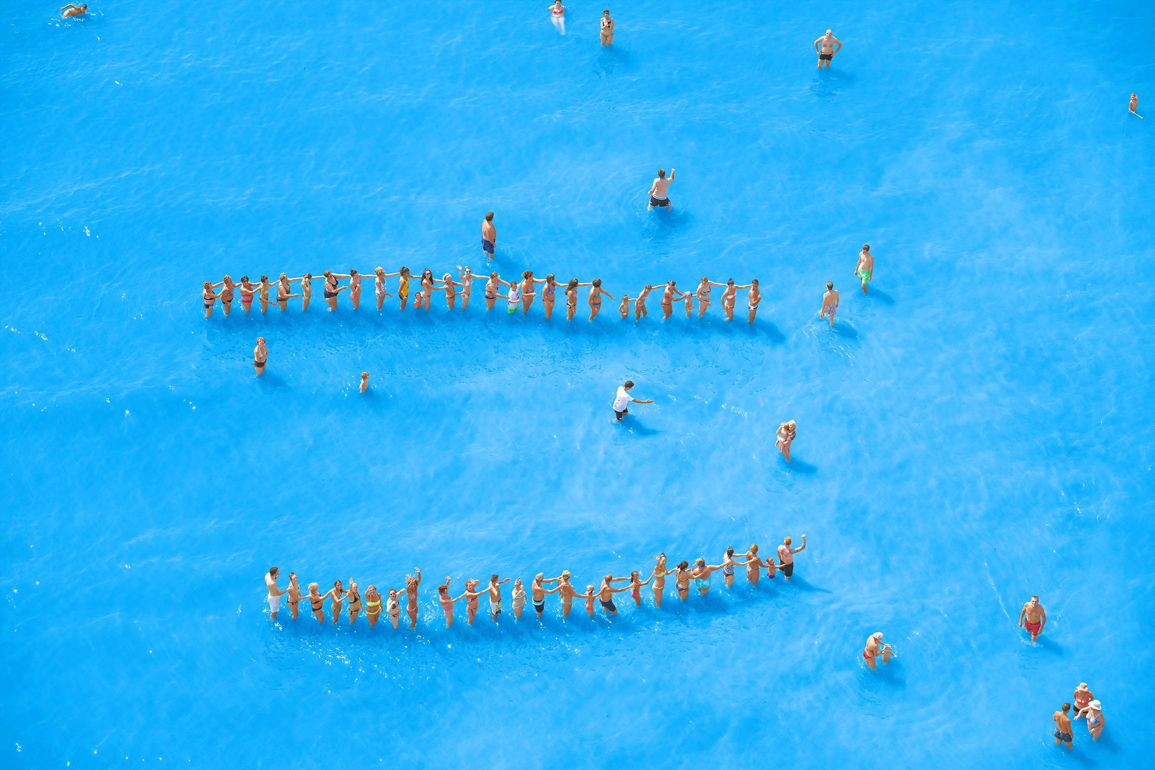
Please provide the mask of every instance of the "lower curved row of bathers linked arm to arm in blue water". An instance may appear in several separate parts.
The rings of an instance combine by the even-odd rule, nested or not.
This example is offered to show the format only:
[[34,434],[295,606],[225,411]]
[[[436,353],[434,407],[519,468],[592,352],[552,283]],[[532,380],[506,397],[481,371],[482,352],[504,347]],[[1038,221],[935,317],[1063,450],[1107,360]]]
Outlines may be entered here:
[[[618,614],[618,607],[613,603],[613,595],[621,593],[623,591],[629,591],[631,597],[634,603],[640,607],[642,604],[641,589],[646,585],[653,584],[654,591],[654,605],[657,607],[662,606],[662,597],[665,593],[665,578],[670,575],[675,576],[675,588],[678,593],[678,598],[685,601],[690,597],[690,581],[694,581],[694,586],[698,589],[699,593],[706,595],[710,590],[710,582],[715,571],[721,571],[725,586],[730,588],[733,585],[735,566],[742,565],[746,567],[746,580],[752,585],[758,585],[758,578],[760,576],[760,569],[767,569],[767,576],[774,577],[776,571],[781,571],[787,580],[793,575],[793,555],[806,547],[806,536],[802,536],[802,545],[797,548],[791,547],[790,538],[784,538],[782,545],[777,548],[778,562],[775,563],[774,559],[762,560],[758,555],[758,545],[751,545],[750,550],[746,551],[744,559],[735,558],[733,548],[726,548],[725,556],[721,565],[707,565],[705,559],[699,559],[691,567],[688,561],[683,561],[673,569],[666,568],[665,554],[658,554],[655,556],[655,565],[653,574],[646,578],[641,580],[638,571],[634,570],[628,577],[614,577],[612,574],[606,575],[602,578],[602,584],[599,588],[595,589],[593,584],[586,586],[586,592],[579,592],[576,588],[571,583],[569,570],[565,570],[557,577],[545,577],[543,573],[538,573],[532,583],[530,584],[529,596],[532,598],[534,611],[537,616],[541,618],[545,612],[545,595],[557,593],[561,598],[561,616],[568,618],[569,611],[573,607],[574,599],[586,600],[586,611],[589,616],[594,616],[594,600],[601,601],[602,607],[609,615]],[[325,622],[325,603],[329,601],[329,614],[333,619],[333,623],[336,625],[337,620],[341,618],[342,606],[349,610],[349,623],[352,625],[357,621],[357,616],[365,613],[368,619],[370,628],[377,625],[377,621],[381,616],[382,604],[385,605],[385,614],[389,618],[394,628],[397,628],[401,621],[401,600],[402,592],[405,598],[405,614],[409,616],[409,627],[415,628],[417,626],[417,590],[422,584],[422,570],[415,568],[416,575],[405,575],[405,586],[403,589],[390,588],[382,599],[381,593],[377,590],[375,585],[370,585],[365,590],[365,595],[362,596],[357,583],[350,578],[349,589],[346,590],[341,581],[335,581],[333,588],[326,593],[321,593],[316,583],[310,583],[308,590],[301,593],[300,584],[297,582],[296,573],[289,573],[289,586],[281,589],[277,585],[277,576],[280,570],[276,567],[271,567],[268,573],[264,574],[264,585],[268,589],[268,601],[269,601],[269,615],[273,620],[277,619],[277,613],[281,610],[281,596],[283,593],[289,595],[288,604],[289,611],[292,613],[293,620],[297,619],[298,605],[300,600],[304,599],[308,603],[312,608],[313,616],[316,618],[318,623]],[[449,595],[449,583],[450,578],[446,577],[445,583],[438,586],[438,601],[441,604],[441,610],[445,612],[445,625],[446,627],[453,626],[453,614],[454,605],[464,599],[465,608],[468,612],[468,622],[472,623],[474,619],[477,616],[478,610],[478,598],[482,596],[489,597],[490,600],[490,615],[493,622],[497,622],[498,615],[501,614],[501,586],[508,583],[509,578],[500,580],[498,575],[492,575],[490,577],[490,583],[485,588],[478,588],[480,581],[478,580],[467,580],[465,590],[460,596]],[[626,585],[620,588],[614,588],[614,583],[623,583]],[[554,588],[545,588],[546,585],[554,585]],[[513,614],[514,618],[521,618],[522,610],[526,606],[527,592],[526,588],[521,583],[519,577],[514,581],[513,585]]]

